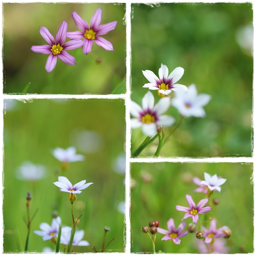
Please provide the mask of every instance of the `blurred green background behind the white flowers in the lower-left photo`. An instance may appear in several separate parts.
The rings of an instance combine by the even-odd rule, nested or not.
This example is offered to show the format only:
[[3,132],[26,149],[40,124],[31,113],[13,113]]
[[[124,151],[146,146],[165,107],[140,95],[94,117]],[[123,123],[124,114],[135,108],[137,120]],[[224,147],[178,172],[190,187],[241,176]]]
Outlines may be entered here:
[[[62,224],[71,227],[68,193],[60,192],[52,184],[58,181],[58,176],[66,176],[73,185],[81,180],[94,182],[74,202],[75,216],[79,208],[83,214],[77,229],[84,229],[83,240],[90,243],[88,247],[76,247],[75,252],[92,252],[93,245],[101,249],[105,226],[110,227],[106,244],[115,237],[107,249],[123,252],[125,161],[119,159],[125,158],[123,100],[35,99],[31,103],[5,100],[4,104],[4,252],[24,251],[27,227],[23,216],[27,216],[28,191],[32,196],[31,216],[39,208],[31,231],[40,230],[42,222],[51,224],[52,205],[56,200],[61,202]],[[58,175],[60,162],[51,150],[69,146],[76,146],[86,159],[71,162]],[[35,182],[18,180],[16,171],[24,161],[46,166],[47,176]],[[31,232],[30,252],[42,252],[47,246],[54,248],[50,241],[43,241]]]

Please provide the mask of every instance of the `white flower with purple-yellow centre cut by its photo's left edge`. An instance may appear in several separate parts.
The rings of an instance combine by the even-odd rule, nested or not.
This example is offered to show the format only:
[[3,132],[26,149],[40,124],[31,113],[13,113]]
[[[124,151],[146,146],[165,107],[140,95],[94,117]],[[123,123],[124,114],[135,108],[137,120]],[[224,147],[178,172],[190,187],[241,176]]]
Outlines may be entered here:
[[170,98],[162,98],[155,105],[154,101],[150,91],[142,98],[142,107],[131,101],[130,113],[135,117],[131,119],[131,128],[136,129],[142,126],[142,132],[149,137],[157,133],[157,126],[171,126],[175,122],[170,115],[161,115],[168,110]]

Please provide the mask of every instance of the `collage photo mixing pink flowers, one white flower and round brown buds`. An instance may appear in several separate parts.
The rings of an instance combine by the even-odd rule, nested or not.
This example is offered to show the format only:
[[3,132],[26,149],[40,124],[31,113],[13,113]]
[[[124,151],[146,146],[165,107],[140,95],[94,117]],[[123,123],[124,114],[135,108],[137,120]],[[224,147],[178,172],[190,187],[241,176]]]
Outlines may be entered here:
[[252,163],[131,163],[132,253],[252,253]]

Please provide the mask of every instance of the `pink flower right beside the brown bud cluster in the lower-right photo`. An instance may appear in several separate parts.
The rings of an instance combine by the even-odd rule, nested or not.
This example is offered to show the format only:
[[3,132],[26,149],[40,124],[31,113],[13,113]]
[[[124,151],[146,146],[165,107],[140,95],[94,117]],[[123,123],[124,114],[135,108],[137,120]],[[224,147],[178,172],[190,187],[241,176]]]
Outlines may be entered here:
[[186,222],[181,222],[181,224],[178,225],[178,227],[176,228],[173,218],[170,218],[170,220],[168,220],[167,222],[167,227],[169,231],[162,228],[157,228],[157,232],[166,235],[161,240],[171,240],[174,244],[180,244],[181,240],[179,237],[186,236],[189,232],[181,232],[185,228],[185,226]]

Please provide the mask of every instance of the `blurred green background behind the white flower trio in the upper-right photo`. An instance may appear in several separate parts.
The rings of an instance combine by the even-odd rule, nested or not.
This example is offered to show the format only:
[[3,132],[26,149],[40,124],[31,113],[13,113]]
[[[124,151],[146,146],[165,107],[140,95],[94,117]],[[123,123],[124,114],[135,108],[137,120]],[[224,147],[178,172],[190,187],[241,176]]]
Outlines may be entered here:
[[[141,71],[151,70],[158,76],[161,63],[169,68],[169,74],[183,67],[178,83],[195,83],[198,93],[212,95],[205,106],[206,117],[182,122],[161,155],[251,157],[252,4],[159,5],[131,6],[131,99],[141,105],[147,92],[142,86],[148,83]],[[157,91],[152,92],[157,102]],[[177,122],[180,119],[174,107],[166,114]],[[132,130],[131,151],[145,137],[141,129]],[[157,140],[141,156],[153,155],[156,148]]]

